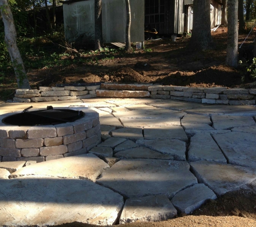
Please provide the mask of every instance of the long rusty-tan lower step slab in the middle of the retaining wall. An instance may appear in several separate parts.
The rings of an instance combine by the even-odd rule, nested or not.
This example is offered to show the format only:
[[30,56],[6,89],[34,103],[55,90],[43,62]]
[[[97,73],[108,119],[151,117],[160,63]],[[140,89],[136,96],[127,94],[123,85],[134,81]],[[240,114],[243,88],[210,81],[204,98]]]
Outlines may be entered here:
[[129,90],[96,90],[97,97],[112,98],[142,98],[149,97],[149,91],[129,91]]

